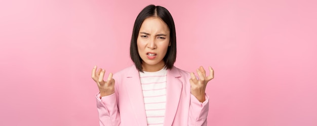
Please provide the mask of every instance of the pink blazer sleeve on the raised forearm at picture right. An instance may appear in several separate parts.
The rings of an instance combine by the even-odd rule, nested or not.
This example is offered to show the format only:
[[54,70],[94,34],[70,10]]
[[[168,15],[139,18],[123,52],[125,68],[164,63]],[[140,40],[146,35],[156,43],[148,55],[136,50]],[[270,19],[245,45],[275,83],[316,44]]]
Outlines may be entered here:
[[206,100],[202,103],[195,96],[190,95],[188,125],[207,125],[209,96],[205,95]]

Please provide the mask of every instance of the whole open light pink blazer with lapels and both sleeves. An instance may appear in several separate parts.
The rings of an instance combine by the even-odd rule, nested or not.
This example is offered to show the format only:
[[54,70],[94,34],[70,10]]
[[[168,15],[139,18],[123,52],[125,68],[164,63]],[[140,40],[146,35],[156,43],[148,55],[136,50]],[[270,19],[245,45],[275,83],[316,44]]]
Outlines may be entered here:
[[[100,125],[147,125],[139,72],[133,65],[113,75],[115,93],[96,95]],[[201,103],[190,94],[190,74],[167,72],[164,125],[207,125],[209,97]]]

